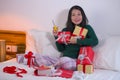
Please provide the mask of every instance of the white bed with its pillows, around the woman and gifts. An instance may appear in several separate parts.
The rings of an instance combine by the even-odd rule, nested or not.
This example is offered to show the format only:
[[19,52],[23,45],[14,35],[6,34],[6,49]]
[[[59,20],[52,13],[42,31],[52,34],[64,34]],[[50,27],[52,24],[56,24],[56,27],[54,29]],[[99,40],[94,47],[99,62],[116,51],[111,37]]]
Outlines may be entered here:
[[[120,36],[100,36],[99,44],[94,48],[94,73],[85,74],[84,80],[120,80]],[[26,32],[26,51],[59,57],[54,37],[49,32],[30,30]],[[44,44],[43,44],[44,43]],[[48,51],[49,50],[49,51]],[[23,77],[3,72],[5,66],[16,66],[27,70]],[[76,80],[74,78],[35,76],[34,69],[19,64],[16,58],[0,63],[0,80]],[[80,80],[80,79],[79,79]]]

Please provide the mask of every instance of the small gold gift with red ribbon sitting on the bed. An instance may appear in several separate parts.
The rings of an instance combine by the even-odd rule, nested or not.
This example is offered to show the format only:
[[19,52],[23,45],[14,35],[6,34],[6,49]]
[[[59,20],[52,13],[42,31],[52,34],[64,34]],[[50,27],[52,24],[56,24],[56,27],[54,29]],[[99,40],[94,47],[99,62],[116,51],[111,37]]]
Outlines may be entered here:
[[91,74],[94,72],[94,68],[93,65],[82,65],[82,64],[78,64],[77,65],[77,71],[79,72],[84,72],[85,74]]

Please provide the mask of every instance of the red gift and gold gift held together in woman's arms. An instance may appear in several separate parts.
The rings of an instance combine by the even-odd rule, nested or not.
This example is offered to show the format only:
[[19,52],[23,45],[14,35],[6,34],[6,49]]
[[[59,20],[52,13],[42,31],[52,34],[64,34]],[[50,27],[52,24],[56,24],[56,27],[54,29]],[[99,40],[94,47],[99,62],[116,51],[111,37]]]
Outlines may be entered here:
[[84,39],[87,35],[87,32],[88,30],[86,28],[75,26],[73,33],[71,33],[70,31],[58,32],[58,38],[56,39],[56,41],[58,43],[67,44],[69,40],[73,37]]

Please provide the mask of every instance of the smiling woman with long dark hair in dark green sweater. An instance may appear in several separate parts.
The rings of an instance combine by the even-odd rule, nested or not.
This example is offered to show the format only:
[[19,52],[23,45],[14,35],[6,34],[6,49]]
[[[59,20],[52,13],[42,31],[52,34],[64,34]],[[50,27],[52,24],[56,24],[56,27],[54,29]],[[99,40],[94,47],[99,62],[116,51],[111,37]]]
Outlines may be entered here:
[[[84,13],[84,10],[80,6],[73,6],[69,10],[66,28],[62,31],[70,31],[73,33],[75,26],[86,28],[88,33],[84,39],[72,38],[68,42],[68,45],[59,44],[56,42],[57,49],[63,53],[60,62],[58,63],[65,69],[76,69],[76,59],[78,57],[79,49],[82,46],[95,46],[98,44],[98,38],[90,25],[88,25],[88,19]],[[57,32],[53,31],[55,38],[57,39]]]

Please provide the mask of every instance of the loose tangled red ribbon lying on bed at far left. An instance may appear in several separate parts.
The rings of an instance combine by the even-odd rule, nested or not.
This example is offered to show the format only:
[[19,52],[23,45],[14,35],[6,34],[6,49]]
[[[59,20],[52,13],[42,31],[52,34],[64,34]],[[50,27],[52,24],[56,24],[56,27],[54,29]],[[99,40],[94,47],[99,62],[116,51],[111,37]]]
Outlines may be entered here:
[[27,73],[25,69],[20,69],[15,66],[10,66],[10,67],[6,66],[3,68],[3,72],[9,73],[9,74],[16,74],[17,77],[23,77],[20,74]]

